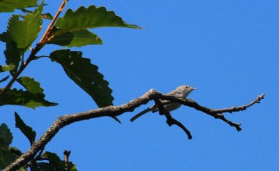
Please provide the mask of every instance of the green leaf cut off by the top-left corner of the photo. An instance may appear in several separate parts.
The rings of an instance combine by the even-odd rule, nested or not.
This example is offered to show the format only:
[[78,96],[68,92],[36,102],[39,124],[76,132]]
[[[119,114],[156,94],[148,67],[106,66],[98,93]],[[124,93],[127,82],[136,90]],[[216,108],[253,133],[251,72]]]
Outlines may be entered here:
[[36,6],[38,0],[1,0],[0,13],[13,12],[15,9],[23,9]]

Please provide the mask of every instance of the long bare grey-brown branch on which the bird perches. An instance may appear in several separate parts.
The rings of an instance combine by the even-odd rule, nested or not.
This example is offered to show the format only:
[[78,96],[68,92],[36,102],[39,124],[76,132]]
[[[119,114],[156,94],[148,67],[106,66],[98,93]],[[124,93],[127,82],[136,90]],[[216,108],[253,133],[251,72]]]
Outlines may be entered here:
[[[96,110],[89,110],[86,112],[80,112],[80,113],[76,113],[76,114],[66,114],[64,116],[58,117],[56,119],[56,121],[54,121],[52,126],[50,126],[50,128],[48,128],[47,131],[43,134],[43,136],[40,137],[36,142],[34,142],[32,144],[32,146],[30,147],[30,149],[27,152],[25,152],[24,154],[22,154],[22,156],[17,158],[17,160],[15,160],[15,162],[8,165],[8,167],[5,168],[3,171],[17,170],[20,167],[22,167],[25,163],[28,163],[28,161],[31,161],[36,156],[38,151],[40,151],[40,149],[43,149],[45,147],[45,145],[48,142],[50,142],[50,140],[52,140],[52,137],[54,137],[54,135],[56,135],[56,133],[59,132],[59,130],[61,128],[63,128],[64,126],[67,126],[69,124],[73,124],[76,121],[83,121],[86,119],[105,117],[105,116],[116,117],[125,112],[133,112],[133,110],[135,110],[135,108],[139,107],[140,105],[144,105],[144,104],[148,103],[149,101],[156,101],[158,99],[172,101],[172,102],[178,102],[183,105],[193,107],[196,110],[202,111],[215,118],[222,119],[223,117],[220,117],[220,114],[218,114],[218,113],[239,112],[241,110],[246,110],[246,108],[254,105],[255,103],[259,103],[259,101],[261,101],[262,98],[264,98],[264,94],[258,96],[255,101],[252,101],[248,105],[244,105],[244,106],[240,106],[240,107],[229,107],[229,108],[220,109],[220,110],[213,110],[208,107],[203,107],[191,99],[187,99],[187,98],[183,99],[183,98],[177,98],[174,96],[167,96],[167,95],[160,94],[155,89],[151,89],[150,91],[146,92],[146,94],[144,94],[140,98],[135,98],[133,101],[130,101],[124,105],[108,106],[108,107],[103,107],[103,108],[99,108]],[[224,119],[222,119],[222,120],[224,121]],[[174,119],[174,123],[175,123],[175,121],[176,120]],[[177,122],[175,124],[178,126],[180,125]]]

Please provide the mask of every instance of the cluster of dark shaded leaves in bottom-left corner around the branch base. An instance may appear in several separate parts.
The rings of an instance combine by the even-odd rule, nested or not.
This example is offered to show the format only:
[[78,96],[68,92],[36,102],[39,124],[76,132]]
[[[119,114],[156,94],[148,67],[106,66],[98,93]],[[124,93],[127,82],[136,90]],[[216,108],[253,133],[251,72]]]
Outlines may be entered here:
[[[20,129],[20,131],[27,137],[30,145],[36,140],[36,132],[30,126],[24,123],[20,118],[20,115],[15,112],[15,126]],[[13,134],[6,124],[1,124],[0,126],[0,170],[6,168],[10,163],[15,161],[16,158],[22,155],[20,149],[17,147],[11,147],[10,144],[13,142]],[[31,171],[40,170],[77,170],[76,165],[72,162],[63,161],[57,156],[57,154],[45,151],[38,154],[36,158],[30,163],[27,163],[20,170],[27,170],[31,168]]]

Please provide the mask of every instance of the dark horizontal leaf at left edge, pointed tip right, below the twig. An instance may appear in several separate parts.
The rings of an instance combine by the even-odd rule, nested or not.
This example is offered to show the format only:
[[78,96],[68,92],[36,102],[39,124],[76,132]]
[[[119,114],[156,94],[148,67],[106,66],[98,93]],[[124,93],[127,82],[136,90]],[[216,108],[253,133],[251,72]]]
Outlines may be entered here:
[[35,108],[38,106],[54,106],[57,103],[46,101],[44,94],[32,94],[29,91],[22,89],[8,89],[5,94],[0,95],[1,105],[22,105],[25,107]]

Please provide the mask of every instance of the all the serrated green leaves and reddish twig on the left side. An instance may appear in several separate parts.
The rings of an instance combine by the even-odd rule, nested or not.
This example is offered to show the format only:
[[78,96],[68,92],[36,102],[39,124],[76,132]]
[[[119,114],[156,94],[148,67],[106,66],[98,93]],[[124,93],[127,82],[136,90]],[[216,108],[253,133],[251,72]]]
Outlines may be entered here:
[[[128,24],[113,11],[105,7],[81,6],[77,10],[68,9],[63,17],[58,17],[63,6],[57,13],[43,13],[45,1],[38,0],[1,0],[0,13],[11,13],[6,31],[0,34],[0,41],[6,44],[4,56],[6,64],[0,65],[0,106],[21,105],[35,109],[36,107],[51,107],[58,105],[45,99],[44,90],[40,82],[24,75],[22,71],[31,61],[39,61],[47,57],[59,64],[66,75],[77,86],[91,96],[98,107],[113,105],[114,97],[109,82],[98,71],[98,66],[91,64],[91,59],[83,57],[82,52],[64,49],[64,47],[82,47],[85,45],[102,45],[103,40],[91,30],[99,27],[126,27],[140,29],[137,25]],[[20,14],[17,12],[21,10]],[[54,17],[52,17],[54,16]],[[38,35],[43,30],[43,22],[52,20],[45,30],[43,37],[38,41]],[[58,45],[63,49],[57,49],[50,54],[38,57],[37,53],[45,45]],[[40,71],[39,71],[40,72]],[[21,88],[13,87],[17,82]],[[119,121],[116,117],[113,117]],[[27,137],[32,145],[36,138],[36,132],[26,124],[15,112],[16,127]],[[120,122],[120,121],[119,121]],[[12,163],[22,152],[10,147],[13,140],[12,133],[6,126],[0,126],[0,168],[5,168]],[[43,150],[43,149],[42,149]],[[47,162],[38,162],[47,161]],[[73,163],[61,161],[56,154],[45,152],[31,161],[31,170],[76,170]],[[66,166],[68,168],[66,168]],[[21,168],[20,170],[26,170]]]

